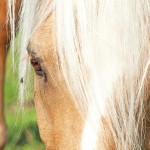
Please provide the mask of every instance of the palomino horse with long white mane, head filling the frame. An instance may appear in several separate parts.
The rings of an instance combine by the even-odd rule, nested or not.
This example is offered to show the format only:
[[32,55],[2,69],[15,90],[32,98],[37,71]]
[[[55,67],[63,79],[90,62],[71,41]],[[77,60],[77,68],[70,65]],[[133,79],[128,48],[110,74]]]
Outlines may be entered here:
[[150,148],[149,8],[149,0],[21,1],[19,97],[31,63],[47,150]]

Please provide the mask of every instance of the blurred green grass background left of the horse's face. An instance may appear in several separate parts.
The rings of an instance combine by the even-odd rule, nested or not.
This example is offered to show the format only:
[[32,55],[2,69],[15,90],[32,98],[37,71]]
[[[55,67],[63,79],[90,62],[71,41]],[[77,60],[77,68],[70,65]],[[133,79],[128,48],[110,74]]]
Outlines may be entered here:
[[[15,58],[18,57],[15,56]],[[33,92],[29,89],[30,94],[27,96],[24,107],[21,108],[17,94],[19,86],[17,66],[12,67],[11,60],[9,52],[6,62],[4,94],[8,128],[8,143],[5,150],[44,150],[45,147],[40,140],[36,122]],[[15,64],[16,62],[15,59]]]

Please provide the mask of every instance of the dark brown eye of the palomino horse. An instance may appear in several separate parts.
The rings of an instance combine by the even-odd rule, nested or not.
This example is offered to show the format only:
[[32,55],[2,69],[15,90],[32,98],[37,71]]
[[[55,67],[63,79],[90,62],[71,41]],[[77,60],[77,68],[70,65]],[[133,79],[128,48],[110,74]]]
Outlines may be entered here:
[[39,58],[33,57],[30,60],[31,65],[33,66],[36,75],[42,76],[44,78],[44,82],[47,81],[46,73],[43,71]]

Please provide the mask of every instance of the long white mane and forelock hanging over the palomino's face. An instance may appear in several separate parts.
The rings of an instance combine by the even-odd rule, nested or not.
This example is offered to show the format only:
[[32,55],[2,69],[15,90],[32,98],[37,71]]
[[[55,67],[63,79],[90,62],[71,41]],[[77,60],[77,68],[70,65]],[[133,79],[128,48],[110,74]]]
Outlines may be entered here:
[[[13,0],[8,1],[13,5]],[[150,64],[150,1],[22,0],[21,60],[31,35],[51,11],[61,69],[86,118],[81,149],[96,149],[98,139],[105,148],[103,118],[117,150],[142,149]],[[20,64],[20,77],[25,78],[27,62]],[[24,84],[21,97],[23,89]],[[92,141],[86,147],[89,134]]]

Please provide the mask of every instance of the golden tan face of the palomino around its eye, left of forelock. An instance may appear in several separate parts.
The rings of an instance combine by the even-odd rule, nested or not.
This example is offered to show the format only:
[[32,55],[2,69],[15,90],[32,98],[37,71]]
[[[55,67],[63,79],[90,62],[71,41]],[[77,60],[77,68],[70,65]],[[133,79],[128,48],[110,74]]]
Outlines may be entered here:
[[[50,16],[30,41],[35,76],[35,107],[41,138],[47,149],[79,149],[83,120],[57,70],[53,20]],[[36,63],[34,63],[34,60]]]

